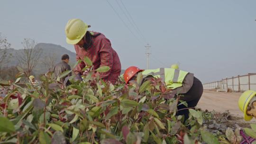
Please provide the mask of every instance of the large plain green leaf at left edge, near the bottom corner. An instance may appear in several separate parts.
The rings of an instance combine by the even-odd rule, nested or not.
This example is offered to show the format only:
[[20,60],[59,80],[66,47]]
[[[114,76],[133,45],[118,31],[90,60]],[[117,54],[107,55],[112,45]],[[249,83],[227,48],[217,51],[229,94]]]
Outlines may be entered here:
[[7,133],[15,132],[14,125],[6,117],[0,116],[0,132],[7,132]]

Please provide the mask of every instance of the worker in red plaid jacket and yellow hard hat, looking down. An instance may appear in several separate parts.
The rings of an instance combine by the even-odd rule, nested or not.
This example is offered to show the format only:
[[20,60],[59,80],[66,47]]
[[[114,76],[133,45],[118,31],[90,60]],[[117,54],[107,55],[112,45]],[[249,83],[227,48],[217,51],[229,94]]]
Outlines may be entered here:
[[[114,84],[121,72],[121,63],[116,51],[111,47],[110,40],[103,34],[88,31],[91,27],[81,19],[70,19],[65,27],[66,42],[74,45],[76,60],[84,60],[84,57],[91,59],[93,68],[108,66],[108,72],[96,72],[103,80]],[[82,81],[82,69],[86,66],[85,62],[78,64],[74,68],[75,79]]]

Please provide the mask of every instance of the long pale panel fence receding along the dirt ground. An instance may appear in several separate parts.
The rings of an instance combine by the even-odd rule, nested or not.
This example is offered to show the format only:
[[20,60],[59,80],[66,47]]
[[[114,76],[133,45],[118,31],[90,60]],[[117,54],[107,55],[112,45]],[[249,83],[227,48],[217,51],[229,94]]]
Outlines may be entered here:
[[256,73],[248,73],[247,75],[238,75],[231,78],[222,79],[203,84],[204,90],[223,89],[232,91],[256,90]]

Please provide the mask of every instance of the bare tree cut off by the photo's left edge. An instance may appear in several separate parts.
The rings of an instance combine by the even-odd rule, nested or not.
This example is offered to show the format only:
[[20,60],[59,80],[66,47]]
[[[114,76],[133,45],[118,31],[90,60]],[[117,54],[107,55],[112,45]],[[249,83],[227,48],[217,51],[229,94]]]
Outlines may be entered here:
[[10,43],[7,42],[7,38],[0,33],[0,66],[4,65],[11,54],[9,54],[8,49],[10,48]]

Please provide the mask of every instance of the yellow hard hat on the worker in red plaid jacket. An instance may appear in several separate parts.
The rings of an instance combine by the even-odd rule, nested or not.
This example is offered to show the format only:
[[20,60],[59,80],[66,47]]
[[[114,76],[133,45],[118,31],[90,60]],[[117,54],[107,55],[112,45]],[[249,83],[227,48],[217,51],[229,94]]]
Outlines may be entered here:
[[81,19],[70,19],[65,27],[66,41],[68,44],[77,44],[85,35],[88,25]]

